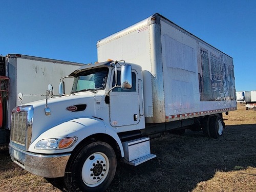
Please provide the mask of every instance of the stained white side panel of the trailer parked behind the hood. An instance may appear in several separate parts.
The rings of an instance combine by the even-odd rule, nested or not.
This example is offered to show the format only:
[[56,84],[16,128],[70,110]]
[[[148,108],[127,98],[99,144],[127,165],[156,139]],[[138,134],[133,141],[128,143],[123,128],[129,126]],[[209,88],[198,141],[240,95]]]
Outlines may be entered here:
[[[15,72],[17,93],[23,93],[23,103],[45,99],[47,86],[51,83],[54,95],[58,95],[60,78],[68,76],[77,68],[79,66],[65,63],[17,58]],[[70,94],[72,83],[72,78],[65,79],[66,94]]]

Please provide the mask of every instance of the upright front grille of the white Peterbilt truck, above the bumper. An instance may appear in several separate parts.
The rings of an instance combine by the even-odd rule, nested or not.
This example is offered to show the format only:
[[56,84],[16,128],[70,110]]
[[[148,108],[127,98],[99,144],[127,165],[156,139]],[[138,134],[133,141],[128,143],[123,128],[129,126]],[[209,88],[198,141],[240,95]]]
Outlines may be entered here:
[[22,146],[26,145],[27,122],[28,122],[27,112],[12,113],[12,121],[11,121],[12,142],[20,144]]

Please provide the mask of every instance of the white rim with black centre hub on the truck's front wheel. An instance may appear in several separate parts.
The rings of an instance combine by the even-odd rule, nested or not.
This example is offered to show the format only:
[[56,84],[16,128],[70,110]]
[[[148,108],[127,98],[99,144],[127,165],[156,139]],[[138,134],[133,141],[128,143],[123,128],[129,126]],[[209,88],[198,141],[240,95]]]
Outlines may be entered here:
[[89,187],[100,185],[109,173],[109,158],[103,153],[94,153],[84,162],[82,180]]

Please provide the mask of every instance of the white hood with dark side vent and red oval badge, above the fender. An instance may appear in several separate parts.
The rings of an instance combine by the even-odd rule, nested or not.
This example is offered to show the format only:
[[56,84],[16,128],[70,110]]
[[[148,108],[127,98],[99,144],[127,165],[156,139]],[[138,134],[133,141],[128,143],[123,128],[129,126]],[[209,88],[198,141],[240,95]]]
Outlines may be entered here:
[[62,122],[82,117],[95,116],[93,94],[56,97],[48,99],[51,114],[45,115],[46,100],[27,103],[33,105],[32,142],[40,134]]

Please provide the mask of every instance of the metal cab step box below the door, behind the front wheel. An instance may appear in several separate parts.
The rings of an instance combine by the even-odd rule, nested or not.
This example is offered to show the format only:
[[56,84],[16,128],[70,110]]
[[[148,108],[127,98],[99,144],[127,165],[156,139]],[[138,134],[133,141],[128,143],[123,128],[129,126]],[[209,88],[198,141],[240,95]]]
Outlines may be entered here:
[[142,137],[131,141],[122,142],[124,162],[137,166],[156,157],[150,153],[150,138]]

